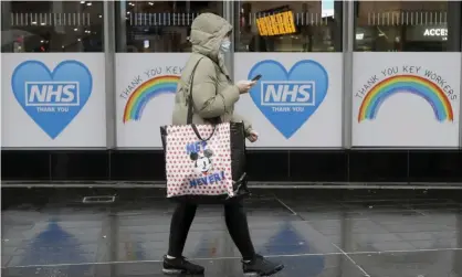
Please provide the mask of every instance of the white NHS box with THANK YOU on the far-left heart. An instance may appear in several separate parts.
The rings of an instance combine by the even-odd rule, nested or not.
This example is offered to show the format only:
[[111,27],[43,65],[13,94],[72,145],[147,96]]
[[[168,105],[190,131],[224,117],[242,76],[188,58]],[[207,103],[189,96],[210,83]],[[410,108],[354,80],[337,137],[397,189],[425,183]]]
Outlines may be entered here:
[[[46,107],[44,111],[69,110],[80,105],[77,82],[25,82],[25,106]],[[60,109],[61,107],[61,109]]]

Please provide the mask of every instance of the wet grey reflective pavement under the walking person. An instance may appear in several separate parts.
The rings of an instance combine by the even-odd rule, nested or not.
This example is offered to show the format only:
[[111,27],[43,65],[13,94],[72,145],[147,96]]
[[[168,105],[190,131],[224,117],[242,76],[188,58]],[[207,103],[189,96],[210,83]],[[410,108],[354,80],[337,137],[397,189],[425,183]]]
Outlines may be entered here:
[[[114,203],[82,203],[117,193]],[[461,191],[256,190],[258,251],[280,277],[462,277]],[[159,190],[2,190],[2,276],[160,274],[174,204]],[[200,206],[185,255],[206,276],[242,276],[222,209]]]

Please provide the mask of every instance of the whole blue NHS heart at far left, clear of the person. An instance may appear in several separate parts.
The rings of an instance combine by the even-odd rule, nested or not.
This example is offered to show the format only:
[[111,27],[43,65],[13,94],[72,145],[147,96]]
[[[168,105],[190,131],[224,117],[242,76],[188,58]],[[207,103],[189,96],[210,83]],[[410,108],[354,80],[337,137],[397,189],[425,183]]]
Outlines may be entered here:
[[78,115],[92,86],[91,72],[77,61],[63,61],[54,71],[42,62],[25,61],[11,77],[18,103],[52,139]]

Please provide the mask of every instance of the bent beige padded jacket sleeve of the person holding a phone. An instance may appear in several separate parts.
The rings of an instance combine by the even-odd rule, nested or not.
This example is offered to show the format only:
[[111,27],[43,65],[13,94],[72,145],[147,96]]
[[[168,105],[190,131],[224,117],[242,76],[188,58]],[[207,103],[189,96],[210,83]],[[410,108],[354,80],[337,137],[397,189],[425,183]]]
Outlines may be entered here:
[[223,92],[217,93],[217,72],[214,64],[208,58],[199,62],[192,83],[192,102],[195,113],[202,118],[213,118],[232,110],[239,100],[239,88],[230,85]]

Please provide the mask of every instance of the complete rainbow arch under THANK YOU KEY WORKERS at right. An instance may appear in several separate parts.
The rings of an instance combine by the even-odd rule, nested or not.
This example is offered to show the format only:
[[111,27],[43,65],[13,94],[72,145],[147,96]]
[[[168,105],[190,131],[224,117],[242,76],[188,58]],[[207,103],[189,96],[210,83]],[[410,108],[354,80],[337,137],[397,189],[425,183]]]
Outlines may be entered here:
[[416,75],[397,75],[381,81],[367,93],[359,108],[358,122],[375,119],[381,104],[397,93],[411,93],[423,97],[433,108],[439,121],[454,119],[451,103],[438,85]]

